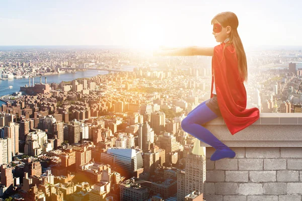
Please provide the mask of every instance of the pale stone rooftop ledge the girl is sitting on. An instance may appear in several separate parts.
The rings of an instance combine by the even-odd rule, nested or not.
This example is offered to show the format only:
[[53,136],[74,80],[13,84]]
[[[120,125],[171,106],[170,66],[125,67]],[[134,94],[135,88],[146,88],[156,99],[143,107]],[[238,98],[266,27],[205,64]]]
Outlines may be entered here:
[[302,147],[302,113],[260,113],[254,124],[234,135],[222,117],[203,126],[229,147]]

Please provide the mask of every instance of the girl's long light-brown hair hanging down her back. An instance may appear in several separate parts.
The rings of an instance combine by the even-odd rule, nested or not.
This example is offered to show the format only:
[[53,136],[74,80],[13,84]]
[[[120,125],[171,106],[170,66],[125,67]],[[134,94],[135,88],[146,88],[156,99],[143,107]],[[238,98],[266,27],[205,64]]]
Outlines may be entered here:
[[[231,44],[234,44],[236,55],[238,59],[238,70],[240,77],[243,81],[248,80],[248,66],[247,66],[247,57],[240,39],[240,36],[237,32],[238,28],[238,18],[237,16],[232,12],[222,12],[217,14],[211,21],[211,24],[214,24],[215,21],[219,22],[222,27],[226,28],[227,26],[230,26],[231,32],[230,32],[230,42],[226,43],[224,49],[228,47]],[[223,54],[224,55],[224,54]]]

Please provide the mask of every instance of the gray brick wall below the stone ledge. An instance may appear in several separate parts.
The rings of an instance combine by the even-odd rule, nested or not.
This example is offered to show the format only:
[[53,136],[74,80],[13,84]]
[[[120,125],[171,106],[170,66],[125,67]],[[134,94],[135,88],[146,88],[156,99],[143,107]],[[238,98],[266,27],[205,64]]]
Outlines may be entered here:
[[211,161],[206,147],[207,201],[301,201],[302,147],[231,147],[232,159]]

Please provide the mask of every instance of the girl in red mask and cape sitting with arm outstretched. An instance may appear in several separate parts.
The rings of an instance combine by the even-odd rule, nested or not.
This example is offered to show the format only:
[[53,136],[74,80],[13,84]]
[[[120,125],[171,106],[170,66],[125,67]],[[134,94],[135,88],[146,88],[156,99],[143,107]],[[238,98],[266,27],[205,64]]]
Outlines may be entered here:
[[244,81],[248,70],[246,54],[238,35],[238,18],[232,12],[217,14],[211,21],[217,45],[213,48],[187,47],[155,52],[160,56],[212,56],[210,99],[192,110],[182,121],[182,129],[216,150],[210,160],[234,158],[236,153],[219,141],[203,124],[222,116],[230,133],[245,129],[259,119],[257,108],[246,109]]

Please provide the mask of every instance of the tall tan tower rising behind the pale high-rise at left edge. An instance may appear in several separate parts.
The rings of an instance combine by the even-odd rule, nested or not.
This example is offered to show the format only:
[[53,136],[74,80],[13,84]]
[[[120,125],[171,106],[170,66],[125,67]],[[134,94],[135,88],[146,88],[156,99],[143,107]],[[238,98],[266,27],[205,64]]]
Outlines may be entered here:
[[12,154],[15,156],[19,153],[19,124],[9,122],[8,126],[4,127],[4,137],[11,138]]

